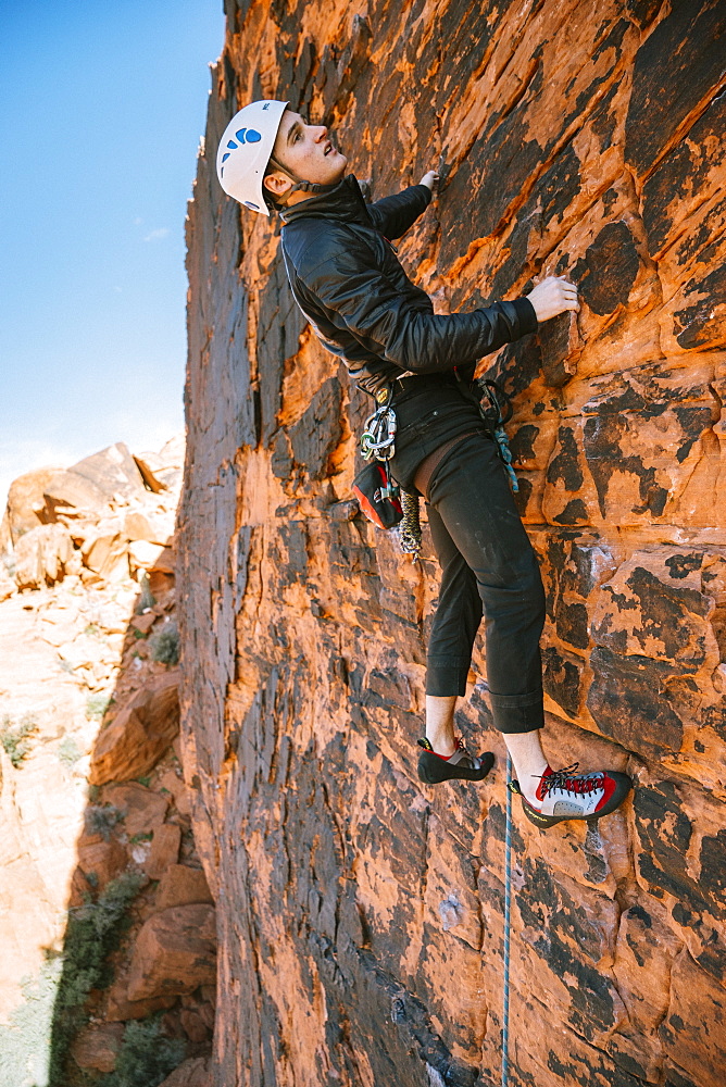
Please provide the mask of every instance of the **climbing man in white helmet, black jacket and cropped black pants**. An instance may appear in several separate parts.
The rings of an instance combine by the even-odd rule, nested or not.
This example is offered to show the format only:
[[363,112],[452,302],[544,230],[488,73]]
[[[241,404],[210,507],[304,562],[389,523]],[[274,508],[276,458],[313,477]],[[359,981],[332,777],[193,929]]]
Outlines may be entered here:
[[576,763],[553,771],[542,752],[544,594],[504,466],[471,393],[480,358],[579,310],[577,288],[550,276],[526,298],[436,315],[391,241],[428,207],[437,173],[368,205],[327,128],[287,107],[268,100],[240,110],[222,137],[217,176],[246,207],[281,212],[296,301],[358,386],[392,402],[392,475],[427,502],[442,578],[427,650],[418,776],[427,784],[481,780],[493,763],[489,752],[472,755],[453,725],[484,615],[495,725],[512,757],[525,814],[542,827],[606,815],[630,788],[625,774],[577,774]]

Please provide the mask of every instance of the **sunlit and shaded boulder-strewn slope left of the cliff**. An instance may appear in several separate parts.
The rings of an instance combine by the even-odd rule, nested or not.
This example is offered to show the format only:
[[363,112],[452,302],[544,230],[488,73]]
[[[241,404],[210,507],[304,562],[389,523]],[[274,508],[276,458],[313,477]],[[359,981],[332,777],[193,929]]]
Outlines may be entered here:
[[[168,1072],[186,1051],[170,1083],[210,1087],[215,911],[178,741],[183,460],[182,438],[136,459],[117,443],[10,488],[0,582],[2,1087],[20,1082],[15,1052],[34,1082],[76,1087],[129,1051],[143,1067],[139,1047],[147,1058],[166,1053]],[[40,978],[46,1004],[28,997],[24,977]],[[41,1004],[43,1028],[33,1012]]]

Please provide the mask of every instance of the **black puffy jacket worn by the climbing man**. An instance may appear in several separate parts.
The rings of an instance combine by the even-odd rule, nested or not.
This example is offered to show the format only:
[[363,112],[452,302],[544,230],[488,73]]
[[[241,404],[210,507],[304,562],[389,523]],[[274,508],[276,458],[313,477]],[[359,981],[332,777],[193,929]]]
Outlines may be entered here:
[[527,299],[436,315],[411,283],[390,239],[429,204],[425,185],[366,204],[352,174],[329,192],[283,212],[281,248],[295,299],[324,346],[359,386],[375,392],[406,371],[465,367],[537,330]]

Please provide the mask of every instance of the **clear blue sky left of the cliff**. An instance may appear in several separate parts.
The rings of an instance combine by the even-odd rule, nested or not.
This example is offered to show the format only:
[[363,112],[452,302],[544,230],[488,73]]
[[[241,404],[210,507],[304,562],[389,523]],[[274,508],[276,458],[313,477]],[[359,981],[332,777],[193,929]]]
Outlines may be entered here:
[[183,427],[184,220],[223,0],[0,3],[0,503]]

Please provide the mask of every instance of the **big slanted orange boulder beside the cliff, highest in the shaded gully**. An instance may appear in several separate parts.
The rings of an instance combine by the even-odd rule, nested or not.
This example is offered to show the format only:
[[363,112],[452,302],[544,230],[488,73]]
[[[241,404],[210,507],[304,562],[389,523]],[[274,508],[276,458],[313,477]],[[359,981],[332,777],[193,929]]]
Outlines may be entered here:
[[93,750],[90,782],[128,780],[151,770],[179,729],[178,670],[141,688],[108,725]]

